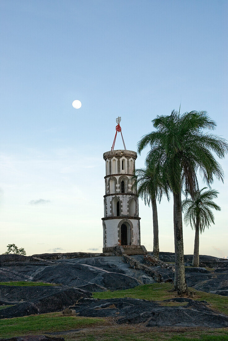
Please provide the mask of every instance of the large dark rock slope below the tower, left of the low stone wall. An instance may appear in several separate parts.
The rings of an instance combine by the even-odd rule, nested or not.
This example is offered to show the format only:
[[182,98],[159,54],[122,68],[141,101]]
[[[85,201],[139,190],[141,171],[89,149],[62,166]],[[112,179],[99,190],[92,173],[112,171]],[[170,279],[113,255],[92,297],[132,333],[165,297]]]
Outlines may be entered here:
[[130,269],[122,257],[75,258],[49,261],[43,266],[21,262],[21,266],[1,267],[0,281],[42,281],[71,287],[97,284],[104,290],[154,283],[145,272]]

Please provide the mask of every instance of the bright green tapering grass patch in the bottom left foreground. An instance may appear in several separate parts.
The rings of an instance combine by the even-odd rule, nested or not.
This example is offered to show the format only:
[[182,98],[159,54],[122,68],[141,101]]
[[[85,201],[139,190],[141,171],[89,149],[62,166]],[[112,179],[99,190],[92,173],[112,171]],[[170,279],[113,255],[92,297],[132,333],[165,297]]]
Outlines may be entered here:
[[48,313],[24,317],[5,318],[0,320],[1,338],[33,335],[44,332],[55,332],[85,328],[105,324],[103,318],[62,316],[61,313]]

